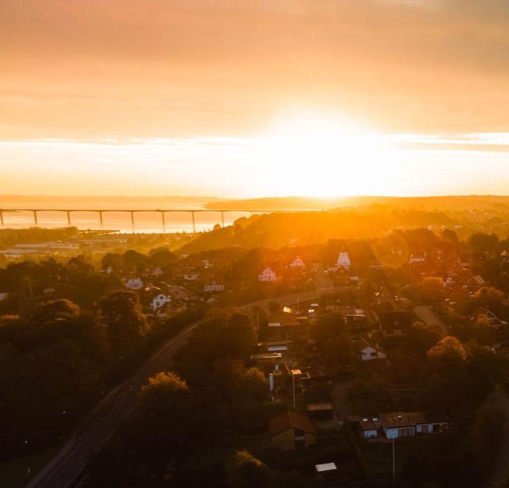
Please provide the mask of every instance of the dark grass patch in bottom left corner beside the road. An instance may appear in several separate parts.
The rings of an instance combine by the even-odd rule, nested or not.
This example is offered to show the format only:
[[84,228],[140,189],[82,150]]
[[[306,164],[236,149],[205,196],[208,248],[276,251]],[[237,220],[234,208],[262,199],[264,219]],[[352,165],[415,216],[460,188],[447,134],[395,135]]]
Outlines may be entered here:
[[[50,461],[59,448],[60,445],[54,445],[51,448],[0,463],[0,487],[21,488]],[[29,473],[29,468],[31,473]]]

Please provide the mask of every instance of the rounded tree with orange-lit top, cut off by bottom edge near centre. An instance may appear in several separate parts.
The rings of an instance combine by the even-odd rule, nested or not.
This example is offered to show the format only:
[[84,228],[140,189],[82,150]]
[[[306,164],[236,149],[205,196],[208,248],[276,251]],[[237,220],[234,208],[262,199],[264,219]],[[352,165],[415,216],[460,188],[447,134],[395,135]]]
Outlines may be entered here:
[[225,468],[231,488],[259,488],[268,486],[271,471],[247,450],[237,451]]

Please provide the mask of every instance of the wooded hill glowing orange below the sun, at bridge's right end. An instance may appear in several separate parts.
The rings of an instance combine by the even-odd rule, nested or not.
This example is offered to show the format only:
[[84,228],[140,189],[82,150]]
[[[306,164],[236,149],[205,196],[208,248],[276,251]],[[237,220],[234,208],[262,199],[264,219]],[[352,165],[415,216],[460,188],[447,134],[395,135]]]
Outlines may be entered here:
[[[254,208],[255,203],[260,206],[263,201],[271,205],[275,203],[274,199],[242,203],[252,204]],[[295,202],[302,204],[297,199]],[[355,197],[349,199],[349,203],[357,206],[317,212],[274,212],[241,218],[231,227],[198,236],[182,251],[198,252],[232,246],[279,248],[325,243],[329,239],[372,239],[395,229],[428,228],[439,233],[447,228],[454,230],[460,238],[477,231],[493,232],[503,238],[509,235],[509,197]]]

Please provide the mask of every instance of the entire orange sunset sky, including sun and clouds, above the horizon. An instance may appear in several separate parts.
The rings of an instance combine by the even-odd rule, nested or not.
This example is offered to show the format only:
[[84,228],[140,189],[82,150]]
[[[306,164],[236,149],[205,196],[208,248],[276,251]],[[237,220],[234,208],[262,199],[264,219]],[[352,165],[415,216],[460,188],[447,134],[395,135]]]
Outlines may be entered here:
[[0,194],[509,195],[507,0],[0,0]]

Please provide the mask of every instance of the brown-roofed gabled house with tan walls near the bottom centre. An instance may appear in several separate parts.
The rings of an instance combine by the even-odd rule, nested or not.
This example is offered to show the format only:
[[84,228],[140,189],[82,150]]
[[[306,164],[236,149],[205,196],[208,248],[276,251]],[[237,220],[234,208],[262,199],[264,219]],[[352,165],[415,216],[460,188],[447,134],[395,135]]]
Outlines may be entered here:
[[268,424],[271,442],[279,450],[294,450],[317,441],[317,430],[306,415],[285,412],[271,419]]

